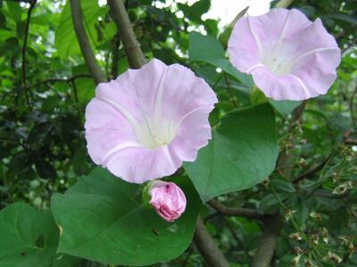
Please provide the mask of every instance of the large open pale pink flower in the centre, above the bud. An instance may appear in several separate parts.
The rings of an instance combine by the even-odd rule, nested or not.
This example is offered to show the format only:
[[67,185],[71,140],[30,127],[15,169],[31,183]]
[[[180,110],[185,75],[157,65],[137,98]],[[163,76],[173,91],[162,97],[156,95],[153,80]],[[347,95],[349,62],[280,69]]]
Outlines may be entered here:
[[211,139],[216,102],[190,69],[154,59],[97,86],[86,109],[88,153],[128,182],[174,174]]

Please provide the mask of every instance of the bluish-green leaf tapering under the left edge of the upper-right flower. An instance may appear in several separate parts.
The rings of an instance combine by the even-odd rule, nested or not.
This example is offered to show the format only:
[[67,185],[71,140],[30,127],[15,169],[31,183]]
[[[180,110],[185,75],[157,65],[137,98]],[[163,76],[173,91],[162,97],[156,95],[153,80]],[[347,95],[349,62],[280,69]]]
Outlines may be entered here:
[[212,36],[203,36],[198,32],[189,34],[188,55],[190,61],[203,61],[222,69],[229,75],[236,77],[247,86],[253,85],[252,77],[239,72],[225,57],[220,41]]

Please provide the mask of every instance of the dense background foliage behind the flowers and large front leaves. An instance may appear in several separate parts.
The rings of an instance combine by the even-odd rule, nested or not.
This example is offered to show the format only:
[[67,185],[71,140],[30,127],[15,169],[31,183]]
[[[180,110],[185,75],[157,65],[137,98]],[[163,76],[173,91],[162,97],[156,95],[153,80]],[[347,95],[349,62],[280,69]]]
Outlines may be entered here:
[[[94,96],[95,83],[80,53],[70,5],[65,2],[0,2],[1,208],[23,200],[46,210],[54,192],[69,189],[95,167],[87,156],[83,130],[85,106]],[[126,1],[145,57],[186,65],[212,86],[220,100],[211,116],[212,125],[228,112],[256,102],[259,95],[251,94],[251,78],[228,63],[228,25],[218,28],[217,20],[201,19],[210,1],[191,6],[167,1],[167,7],[160,2],[165,3]],[[117,77],[129,63],[109,9],[93,0],[82,0],[81,5],[95,57],[108,78]],[[288,155],[289,164],[279,165],[270,177],[263,177],[264,182],[215,201],[224,208],[282,214],[274,266],[291,266],[294,261],[296,266],[312,266],[311,261],[315,266],[352,267],[357,265],[357,2],[296,0],[290,7],[311,20],[320,17],[336,37],[343,54],[338,78],[327,95],[304,102],[302,114],[299,109],[291,114],[300,102],[271,101],[280,156]],[[296,114],[301,116],[297,122]],[[265,123],[263,117],[261,123]],[[259,157],[256,160],[265,164]],[[194,172],[190,166],[186,169]],[[249,266],[262,240],[263,226],[271,224],[270,217],[229,215],[221,206],[217,208],[218,202],[210,204],[202,207],[201,216],[216,245],[232,266]],[[46,220],[51,219],[41,221]],[[4,218],[0,227],[1,223]],[[0,233],[3,239],[4,232]],[[15,266],[2,262],[6,242],[10,241],[0,240],[0,263]],[[62,265],[49,259],[41,266],[104,266],[62,257]],[[192,244],[175,260],[156,265],[203,266],[204,262]]]

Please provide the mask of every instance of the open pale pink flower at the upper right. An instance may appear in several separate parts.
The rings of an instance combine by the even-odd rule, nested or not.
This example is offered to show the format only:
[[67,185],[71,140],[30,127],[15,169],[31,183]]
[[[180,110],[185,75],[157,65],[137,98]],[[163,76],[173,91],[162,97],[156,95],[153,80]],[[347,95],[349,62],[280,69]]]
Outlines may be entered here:
[[228,41],[230,61],[253,75],[274,100],[304,100],[325,94],[336,79],[341,53],[321,20],[298,10],[272,9],[237,21]]

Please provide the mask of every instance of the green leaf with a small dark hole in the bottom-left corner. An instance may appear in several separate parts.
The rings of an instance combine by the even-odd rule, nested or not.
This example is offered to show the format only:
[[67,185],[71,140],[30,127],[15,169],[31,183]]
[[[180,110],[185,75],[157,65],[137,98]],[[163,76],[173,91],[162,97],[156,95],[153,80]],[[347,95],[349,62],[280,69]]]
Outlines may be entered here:
[[53,266],[59,231],[49,211],[18,202],[0,212],[0,266]]

